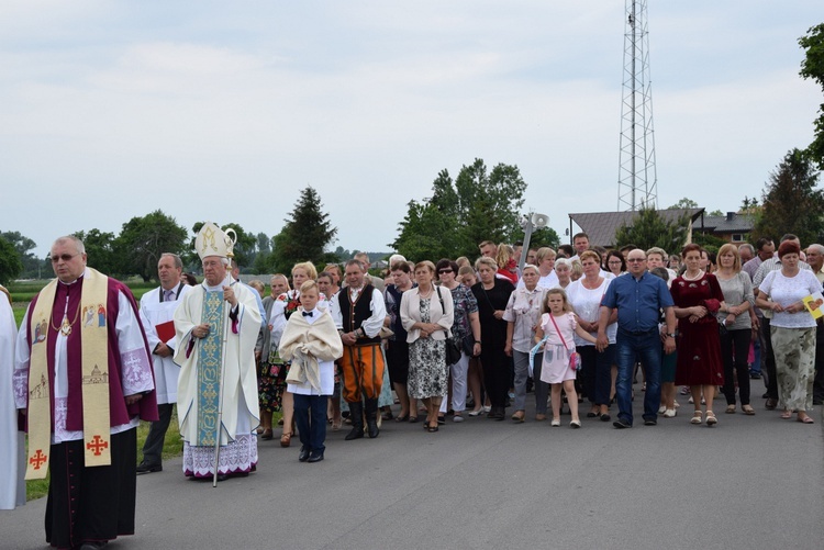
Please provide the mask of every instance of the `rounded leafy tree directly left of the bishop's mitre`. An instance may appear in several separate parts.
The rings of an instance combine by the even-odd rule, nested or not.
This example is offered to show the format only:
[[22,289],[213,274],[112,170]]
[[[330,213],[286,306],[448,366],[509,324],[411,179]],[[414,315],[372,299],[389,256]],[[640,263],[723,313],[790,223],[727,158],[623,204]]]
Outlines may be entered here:
[[144,281],[157,277],[157,260],[163,252],[180,254],[186,247],[186,228],[174,217],[156,210],[123,224],[113,243],[120,274],[138,274]]

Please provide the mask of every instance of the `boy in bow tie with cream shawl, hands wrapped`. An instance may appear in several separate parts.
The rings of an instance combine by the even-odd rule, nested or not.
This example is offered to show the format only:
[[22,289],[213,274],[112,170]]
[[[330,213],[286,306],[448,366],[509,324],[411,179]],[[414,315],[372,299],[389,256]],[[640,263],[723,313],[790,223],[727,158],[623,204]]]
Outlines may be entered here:
[[326,439],[326,405],[334,390],[334,361],[343,356],[343,344],[329,311],[318,308],[321,291],[313,280],[300,287],[298,312],[289,317],[278,348],[292,361],[288,391],[294,394],[294,422],[300,435],[301,462],[323,460]]

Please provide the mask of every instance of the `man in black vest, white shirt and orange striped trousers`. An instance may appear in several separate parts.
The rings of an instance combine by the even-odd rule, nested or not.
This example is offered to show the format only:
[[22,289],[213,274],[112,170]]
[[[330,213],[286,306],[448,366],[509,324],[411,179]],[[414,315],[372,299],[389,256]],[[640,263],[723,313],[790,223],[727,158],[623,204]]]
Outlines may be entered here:
[[[369,437],[378,437],[378,396],[383,382],[383,353],[380,327],[387,316],[380,291],[365,283],[366,269],[358,260],[346,262],[346,283],[337,294],[339,307],[333,307],[344,355],[341,371],[343,394],[349,405],[352,431],[346,440],[364,437],[364,405]],[[363,403],[361,403],[361,400]]]

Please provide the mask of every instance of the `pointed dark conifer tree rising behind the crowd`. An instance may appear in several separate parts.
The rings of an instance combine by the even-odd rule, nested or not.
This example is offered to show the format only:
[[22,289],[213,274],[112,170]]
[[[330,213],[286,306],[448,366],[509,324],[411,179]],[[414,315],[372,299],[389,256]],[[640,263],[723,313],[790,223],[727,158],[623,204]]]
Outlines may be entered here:
[[308,186],[300,192],[294,210],[285,220],[286,225],[274,238],[271,252],[276,271],[289,272],[300,261],[320,265],[337,261],[326,248],[335,240],[337,227],[332,226],[329,214],[323,212],[318,191]]

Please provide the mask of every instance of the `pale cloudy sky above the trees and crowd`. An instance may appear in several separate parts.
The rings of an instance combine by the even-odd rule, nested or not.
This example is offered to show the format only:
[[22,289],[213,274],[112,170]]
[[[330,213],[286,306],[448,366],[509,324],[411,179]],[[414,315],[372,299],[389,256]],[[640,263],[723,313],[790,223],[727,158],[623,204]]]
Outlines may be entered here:
[[[736,211],[813,138],[821,0],[647,15],[658,205]],[[622,0],[4,0],[0,231],[45,256],[160,209],[272,236],[312,186],[333,248],[385,251],[482,158],[568,238],[569,213],[617,209],[625,32]]]

